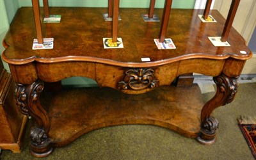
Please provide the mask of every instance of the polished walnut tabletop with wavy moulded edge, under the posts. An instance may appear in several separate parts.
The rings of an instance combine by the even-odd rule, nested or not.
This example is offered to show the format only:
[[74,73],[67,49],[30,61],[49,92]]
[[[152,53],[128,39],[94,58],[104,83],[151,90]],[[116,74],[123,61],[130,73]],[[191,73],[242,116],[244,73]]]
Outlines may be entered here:
[[[212,10],[211,15],[218,23],[205,24],[198,19],[203,10],[176,9],[170,13],[166,37],[172,38],[177,49],[157,49],[154,38],[159,37],[161,23],[141,20],[141,13],[147,9],[120,8],[122,20],[118,22],[117,34],[123,39],[124,49],[103,49],[102,38],[112,36],[112,22],[102,19],[107,8],[51,8],[52,14],[62,15],[60,24],[42,24],[44,37],[54,38],[54,49],[33,51],[36,30],[31,9],[20,8],[5,38],[10,47],[2,57],[10,64],[92,61],[122,67],[148,67],[191,58],[247,60],[252,56],[234,28],[227,40],[231,47],[211,44],[208,36],[221,36],[225,25],[225,19],[216,10]],[[155,13],[162,15],[163,10],[156,9]],[[151,62],[141,63],[141,58],[145,57]]]

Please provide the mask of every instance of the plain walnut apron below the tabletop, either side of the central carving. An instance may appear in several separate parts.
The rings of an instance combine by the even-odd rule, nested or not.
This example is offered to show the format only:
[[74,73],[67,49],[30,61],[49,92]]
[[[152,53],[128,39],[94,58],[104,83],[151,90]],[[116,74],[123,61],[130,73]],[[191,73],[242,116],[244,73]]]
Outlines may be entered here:
[[[227,76],[237,77],[241,74],[244,63],[244,60],[233,58],[226,60],[196,58],[143,69],[152,69],[154,78],[158,81],[158,86],[164,86],[170,85],[176,77],[188,73],[214,77],[223,72]],[[68,77],[81,76],[94,79],[99,86],[118,89],[118,83],[124,81],[125,72],[132,68],[86,61],[65,61],[60,63],[33,62],[26,65],[10,65],[10,69],[14,81],[21,84],[31,84],[36,79],[45,82],[56,82]],[[139,69],[139,67],[133,69]]]

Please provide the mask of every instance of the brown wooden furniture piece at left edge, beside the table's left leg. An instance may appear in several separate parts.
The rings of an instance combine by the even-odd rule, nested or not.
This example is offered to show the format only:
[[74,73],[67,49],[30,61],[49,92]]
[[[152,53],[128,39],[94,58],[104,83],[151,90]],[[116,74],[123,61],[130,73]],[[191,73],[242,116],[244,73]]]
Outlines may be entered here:
[[3,68],[2,61],[0,72],[0,149],[19,153],[28,117],[22,115],[15,104],[15,83]]

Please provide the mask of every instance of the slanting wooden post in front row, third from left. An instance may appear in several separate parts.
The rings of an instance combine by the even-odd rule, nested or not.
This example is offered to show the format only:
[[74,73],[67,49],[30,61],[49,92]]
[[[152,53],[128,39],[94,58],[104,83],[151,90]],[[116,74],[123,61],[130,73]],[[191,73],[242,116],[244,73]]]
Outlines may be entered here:
[[164,38],[166,35],[166,30],[168,27],[168,21],[169,21],[169,17],[170,17],[171,7],[172,7],[172,0],[165,0],[164,12],[163,12],[160,36],[159,36],[159,42],[161,42],[161,43],[164,42]]

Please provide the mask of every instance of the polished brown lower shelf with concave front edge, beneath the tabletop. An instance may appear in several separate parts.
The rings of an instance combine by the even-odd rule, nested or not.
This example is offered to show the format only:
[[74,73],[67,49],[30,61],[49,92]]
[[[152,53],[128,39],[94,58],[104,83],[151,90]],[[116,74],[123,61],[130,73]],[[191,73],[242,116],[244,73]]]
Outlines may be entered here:
[[140,95],[111,88],[81,88],[48,97],[42,104],[49,106],[49,136],[55,147],[67,145],[86,132],[124,124],[158,125],[195,138],[204,106],[196,84],[164,86]]

